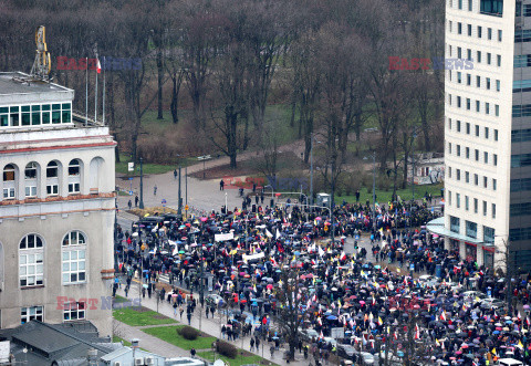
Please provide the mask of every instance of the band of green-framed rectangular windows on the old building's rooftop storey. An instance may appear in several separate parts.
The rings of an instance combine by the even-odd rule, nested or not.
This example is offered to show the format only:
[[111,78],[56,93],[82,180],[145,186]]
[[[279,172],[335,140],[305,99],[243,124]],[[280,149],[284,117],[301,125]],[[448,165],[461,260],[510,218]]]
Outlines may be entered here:
[[72,123],[72,103],[0,107],[0,127]]

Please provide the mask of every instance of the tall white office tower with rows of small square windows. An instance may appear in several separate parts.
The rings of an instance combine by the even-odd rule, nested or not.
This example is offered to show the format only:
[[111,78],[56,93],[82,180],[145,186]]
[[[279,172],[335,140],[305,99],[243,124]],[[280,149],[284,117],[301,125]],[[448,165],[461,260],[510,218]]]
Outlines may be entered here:
[[461,259],[504,269],[510,248],[529,269],[531,1],[446,0],[445,48],[473,66],[446,70],[445,215],[428,229]]

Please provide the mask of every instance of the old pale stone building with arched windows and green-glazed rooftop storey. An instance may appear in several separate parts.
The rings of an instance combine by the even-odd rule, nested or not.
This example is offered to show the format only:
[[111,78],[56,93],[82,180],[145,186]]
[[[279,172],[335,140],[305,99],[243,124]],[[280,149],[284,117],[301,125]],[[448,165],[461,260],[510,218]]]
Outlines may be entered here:
[[91,321],[112,334],[116,143],[73,98],[0,73],[1,328]]

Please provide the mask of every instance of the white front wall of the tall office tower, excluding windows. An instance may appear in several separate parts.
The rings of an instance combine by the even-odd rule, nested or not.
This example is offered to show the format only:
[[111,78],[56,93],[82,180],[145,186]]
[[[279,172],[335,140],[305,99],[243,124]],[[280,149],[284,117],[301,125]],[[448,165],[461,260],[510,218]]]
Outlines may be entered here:
[[[506,1],[503,17],[493,17],[480,13],[479,0],[472,0],[471,11],[468,8],[468,0],[446,1],[446,57],[459,57],[458,48],[461,48],[460,57],[467,59],[467,50],[471,50],[473,69],[446,71],[445,226],[450,229],[450,216],[457,217],[460,219],[459,233],[466,236],[465,221],[476,222],[477,239],[480,241],[483,240],[483,227],[493,228],[496,247],[501,248],[509,234],[514,2]],[[462,4],[462,9],[458,9],[459,4]],[[461,34],[458,34],[459,23],[461,23]],[[469,24],[471,25],[470,35],[468,34]],[[478,38],[478,27],[481,27],[481,38]],[[488,39],[489,29],[491,29],[491,40]],[[498,31],[502,32],[501,41]],[[478,51],[481,52],[481,62],[478,60]],[[491,57],[490,65],[487,62],[488,53]],[[498,55],[501,56],[500,65],[497,62]],[[461,74],[460,83],[458,72]],[[467,85],[467,74],[470,74],[470,85]],[[480,77],[479,87],[477,76]],[[487,77],[490,79],[490,90],[487,88]],[[500,83],[499,92],[497,81]],[[458,96],[461,98],[460,107],[458,107]],[[469,111],[467,98],[470,98]],[[480,101],[479,112],[476,111],[476,101]],[[489,103],[489,114],[487,114],[486,103]],[[496,115],[496,105],[499,106],[498,115]],[[460,130],[458,130],[458,121],[460,121]],[[467,123],[470,124],[469,134]],[[479,126],[479,136],[476,136],[476,126]],[[489,128],[488,137],[486,127]],[[494,130],[498,130],[498,140],[494,138]],[[460,156],[458,156],[458,146]],[[468,158],[466,157],[467,147],[469,148]],[[478,160],[475,156],[476,150],[479,151]],[[488,154],[487,163],[485,153]],[[497,165],[493,164],[494,155]],[[457,169],[460,170],[460,180],[457,179]],[[467,171],[469,182],[466,181]],[[478,185],[475,184],[475,175],[478,175]],[[487,187],[483,187],[483,177],[487,177]],[[496,190],[493,179],[496,179]],[[457,207],[457,194],[460,195],[460,207]],[[469,199],[468,210],[466,197]],[[478,200],[477,213],[473,207],[475,198]],[[487,202],[485,213],[483,201]],[[492,205],[496,205],[496,216],[493,216]],[[477,258],[480,264],[483,260],[482,247],[483,244],[478,244]],[[498,253],[494,266],[503,265],[501,260]]]

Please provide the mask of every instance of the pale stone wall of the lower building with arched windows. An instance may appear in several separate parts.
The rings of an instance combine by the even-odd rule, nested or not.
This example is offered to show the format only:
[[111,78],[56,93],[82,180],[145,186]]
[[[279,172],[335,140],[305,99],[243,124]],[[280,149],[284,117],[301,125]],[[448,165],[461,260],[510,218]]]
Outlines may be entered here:
[[[14,327],[21,322],[21,307],[44,306],[44,321],[63,322],[58,297],[88,301],[86,320],[101,335],[112,334],[112,310],[102,296],[112,294],[114,268],[114,145],[106,127],[62,127],[32,132],[0,134],[0,171],[7,165],[15,167],[14,199],[0,195],[0,310],[1,327]],[[81,166],[80,192],[69,194],[67,167],[72,159]],[[59,195],[46,195],[46,166],[59,165]],[[38,166],[37,197],[24,197],[24,168]],[[0,176],[0,186],[4,186]],[[86,281],[63,284],[63,238],[70,231],[81,231],[86,240]],[[44,283],[21,287],[19,283],[19,243],[28,233],[43,240]],[[102,271],[104,271],[102,273]],[[2,274],[3,273],[3,274]],[[3,276],[3,284],[2,284]]]

